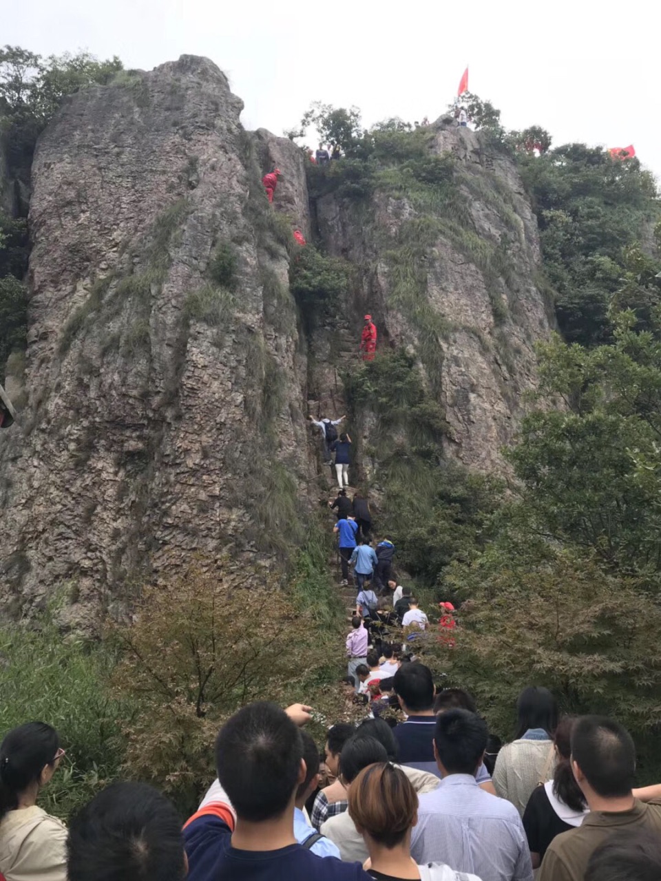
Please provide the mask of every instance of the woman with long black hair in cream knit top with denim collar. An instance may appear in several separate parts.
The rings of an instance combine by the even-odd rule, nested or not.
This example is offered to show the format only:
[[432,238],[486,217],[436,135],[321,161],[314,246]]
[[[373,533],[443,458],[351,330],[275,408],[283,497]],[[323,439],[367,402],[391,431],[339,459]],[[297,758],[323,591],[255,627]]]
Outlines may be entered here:
[[547,688],[531,685],[519,695],[516,715],[516,736],[496,759],[494,787],[496,795],[507,798],[523,817],[532,790],[553,777],[558,705]]

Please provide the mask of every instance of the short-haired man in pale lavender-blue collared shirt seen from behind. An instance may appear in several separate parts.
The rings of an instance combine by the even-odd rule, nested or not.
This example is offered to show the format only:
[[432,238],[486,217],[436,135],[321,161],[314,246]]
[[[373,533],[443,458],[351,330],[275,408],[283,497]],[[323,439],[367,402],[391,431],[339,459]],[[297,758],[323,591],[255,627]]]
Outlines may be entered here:
[[468,710],[451,709],[435,718],[434,757],[442,784],[419,796],[411,855],[419,865],[446,862],[482,881],[531,881],[519,812],[483,792],[475,779],[487,737],[486,723]]

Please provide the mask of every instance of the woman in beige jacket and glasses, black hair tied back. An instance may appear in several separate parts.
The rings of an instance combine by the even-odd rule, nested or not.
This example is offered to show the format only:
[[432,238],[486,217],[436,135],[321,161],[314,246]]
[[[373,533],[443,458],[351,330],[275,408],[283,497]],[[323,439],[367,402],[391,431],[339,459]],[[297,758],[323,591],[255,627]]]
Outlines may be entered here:
[[37,807],[64,751],[44,722],[20,725],[0,745],[0,872],[6,881],[66,881],[66,826]]

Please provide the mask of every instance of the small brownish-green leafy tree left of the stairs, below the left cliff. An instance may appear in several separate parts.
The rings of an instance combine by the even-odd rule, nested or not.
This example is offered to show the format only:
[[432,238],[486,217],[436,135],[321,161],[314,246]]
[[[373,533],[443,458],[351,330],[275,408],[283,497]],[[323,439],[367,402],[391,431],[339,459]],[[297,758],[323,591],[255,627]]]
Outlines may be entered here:
[[[115,687],[137,707],[123,720],[127,774],[194,811],[213,778],[220,723],[251,700],[309,696],[310,676],[336,659],[315,618],[271,576],[242,581],[203,566],[146,589],[134,624],[118,627]],[[338,659],[339,660],[339,656]],[[336,673],[337,676],[337,673]]]

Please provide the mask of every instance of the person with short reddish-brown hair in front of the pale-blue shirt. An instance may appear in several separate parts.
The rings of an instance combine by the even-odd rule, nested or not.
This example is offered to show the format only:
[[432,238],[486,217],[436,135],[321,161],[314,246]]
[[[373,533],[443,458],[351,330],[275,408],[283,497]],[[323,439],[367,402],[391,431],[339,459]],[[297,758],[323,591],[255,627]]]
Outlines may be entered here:
[[392,762],[377,762],[356,776],[349,789],[349,816],[368,849],[368,873],[379,881],[479,881],[442,862],[413,862],[411,830],[418,821],[418,796]]

